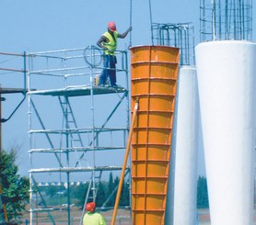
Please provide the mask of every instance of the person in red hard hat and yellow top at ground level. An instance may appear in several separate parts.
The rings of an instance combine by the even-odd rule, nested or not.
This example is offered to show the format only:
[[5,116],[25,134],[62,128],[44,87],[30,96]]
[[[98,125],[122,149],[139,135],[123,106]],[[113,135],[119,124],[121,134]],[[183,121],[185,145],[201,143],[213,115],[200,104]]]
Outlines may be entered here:
[[83,225],[106,225],[105,219],[98,212],[95,212],[95,202],[88,202],[86,205],[87,213],[83,218]]

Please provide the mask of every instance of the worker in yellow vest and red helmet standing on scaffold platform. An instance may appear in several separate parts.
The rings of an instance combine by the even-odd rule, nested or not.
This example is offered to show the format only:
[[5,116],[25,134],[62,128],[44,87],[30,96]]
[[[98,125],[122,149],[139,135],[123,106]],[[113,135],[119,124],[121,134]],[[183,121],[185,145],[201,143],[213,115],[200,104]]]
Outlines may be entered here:
[[[104,86],[108,77],[110,77],[111,87],[119,87],[116,84],[116,66],[117,63],[115,51],[117,49],[117,39],[124,39],[127,34],[132,30],[128,28],[123,34],[116,31],[114,22],[108,23],[108,31],[105,32],[97,42],[99,48],[104,51],[104,69],[99,77],[99,86]],[[107,69],[108,68],[108,69]]]

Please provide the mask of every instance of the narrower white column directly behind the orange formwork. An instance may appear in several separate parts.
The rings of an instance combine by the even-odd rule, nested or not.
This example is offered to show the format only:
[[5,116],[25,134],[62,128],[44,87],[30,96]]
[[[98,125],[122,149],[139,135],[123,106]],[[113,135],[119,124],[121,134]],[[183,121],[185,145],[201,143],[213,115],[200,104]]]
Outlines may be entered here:
[[180,68],[173,224],[196,224],[199,101],[196,69]]

